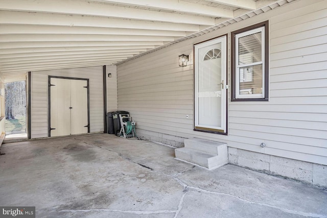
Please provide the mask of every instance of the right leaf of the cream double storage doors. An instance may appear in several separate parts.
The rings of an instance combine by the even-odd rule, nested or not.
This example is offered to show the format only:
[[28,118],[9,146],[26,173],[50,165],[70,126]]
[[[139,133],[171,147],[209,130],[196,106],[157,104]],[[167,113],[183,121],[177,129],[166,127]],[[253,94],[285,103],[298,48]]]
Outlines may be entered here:
[[87,81],[71,81],[71,134],[87,133]]

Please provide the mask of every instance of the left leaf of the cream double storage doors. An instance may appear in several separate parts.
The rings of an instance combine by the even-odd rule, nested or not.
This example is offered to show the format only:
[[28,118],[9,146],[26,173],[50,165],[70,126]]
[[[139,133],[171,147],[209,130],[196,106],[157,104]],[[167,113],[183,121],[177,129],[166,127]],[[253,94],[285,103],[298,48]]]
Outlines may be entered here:
[[71,134],[71,83],[69,80],[51,78],[51,136]]

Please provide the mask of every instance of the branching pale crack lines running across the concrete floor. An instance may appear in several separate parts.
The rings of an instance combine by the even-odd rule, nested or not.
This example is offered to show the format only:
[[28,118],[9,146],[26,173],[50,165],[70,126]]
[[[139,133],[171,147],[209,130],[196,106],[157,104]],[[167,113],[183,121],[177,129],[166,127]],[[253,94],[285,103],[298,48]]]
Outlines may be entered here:
[[[97,145],[95,145],[95,146],[97,146]],[[236,199],[238,199],[240,201],[243,201],[243,202],[246,202],[246,203],[249,203],[249,204],[256,204],[256,205],[261,205],[261,206],[275,208],[275,209],[278,209],[278,210],[281,210],[283,212],[290,213],[290,214],[307,216],[307,217],[308,216],[311,216],[311,217],[318,217],[318,218],[327,218],[326,215],[321,215],[321,214],[316,214],[316,213],[307,213],[307,212],[296,211],[296,210],[290,210],[290,209],[286,209],[286,208],[282,208],[282,207],[278,207],[278,206],[273,206],[273,205],[270,205],[270,204],[258,203],[258,202],[253,202],[253,201],[245,200],[245,199],[242,199],[242,198],[240,198],[238,196],[229,195],[229,194],[222,193],[222,192],[208,191],[208,190],[205,190],[205,189],[202,189],[202,188],[198,188],[198,187],[194,187],[194,186],[189,186],[189,185],[185,184],[184,182],[182,182],[179,178],[177,178],[178,176],[181,176],[186,171],[189,171],[190,169],[194,168],[195,166],[186,167],[180,173],[177,173],[175,176],[171,176],[171,175],[165,174],[163,172],[156,171],[153,168],[148,167],[148,166],[146,166],[144,164],[138,163],[135,160],[132,160],[132,159],[130,159],[128,157],[125,157],[124,155],[122,155],[119,152],[112,151],[110,149],[103,148],[101,146],[97,146],[97,147],[102,148],[102,149],[105,149],[105,150],[108,150],[108,151],[111,151],[111,152],[114,152],[114,153],[118,154],[120,157],[122,157],[123,159],[128,160],[128,161],[131,161],[132,163],[141,165],[141,166],[143,166],[145,168],[148,168],[151,171],[153,171],[154,173],[157,173],[157,174],[160,174],[160,175],[164,175],[164,176],[168,176],[168,177],[173,178],[179,185],[181,185],[183,187],[183,192],[184,192],[183,195],[182,195],[182,197],[181,197],[181,199],[180,199],[180,201],[179,201],[179,205],[178,205],[178,209],[177,210],[159,210],[159,211],[122,211],[122,210],[108,210],[108,211],[118,211],[118,212],[127,212],[127,213],[134,213],[134,212],[136,212],[135,214],[175,213],[174,218],[176,218],[177,215],[179,214],[180,210],[182,209],[182,204],[184,203],[185,195],[190,192],[189,189],[194,189],[194,190],[197,190],[197,191],[201,191],[201,192],[205,192],[205,193],[209,193],[209,194],[213,194],[213,195],[222,195],[222,196],[228,196],[228,197],[236,198]],[[94,209],[94,210],[96,210],[96,209]],[[107,211],[106,209],[98,209],[98,210]],[[87,212],[89,210],[77,210],[77,211],[85,211],[85,212]],[[139,212],[141,212],[141,213],[139,213]]]

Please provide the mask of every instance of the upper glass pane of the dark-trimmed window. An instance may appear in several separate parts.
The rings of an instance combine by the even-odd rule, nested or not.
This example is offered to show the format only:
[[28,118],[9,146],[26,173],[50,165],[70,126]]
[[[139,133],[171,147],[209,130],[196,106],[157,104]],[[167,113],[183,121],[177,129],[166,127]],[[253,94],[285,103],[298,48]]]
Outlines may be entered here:
[[239,65],[262,61],[261,45],[261,32],[239,38]]

